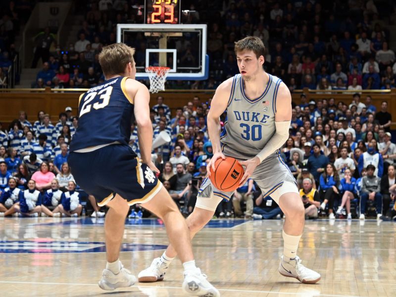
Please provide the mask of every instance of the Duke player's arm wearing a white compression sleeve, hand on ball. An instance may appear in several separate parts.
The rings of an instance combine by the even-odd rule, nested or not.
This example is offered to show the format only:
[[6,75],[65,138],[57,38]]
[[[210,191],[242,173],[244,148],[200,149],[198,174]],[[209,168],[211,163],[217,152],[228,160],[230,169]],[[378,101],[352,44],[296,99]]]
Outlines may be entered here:
[[252,159],[240,162],[245,167],[245,174],[240,184],[244,184],[254,169],[269,155],[280,149],[289,137],[289,127],[292,121],[292,96],[289,88],[281,83],[276,99],[275,133],[264,148]]

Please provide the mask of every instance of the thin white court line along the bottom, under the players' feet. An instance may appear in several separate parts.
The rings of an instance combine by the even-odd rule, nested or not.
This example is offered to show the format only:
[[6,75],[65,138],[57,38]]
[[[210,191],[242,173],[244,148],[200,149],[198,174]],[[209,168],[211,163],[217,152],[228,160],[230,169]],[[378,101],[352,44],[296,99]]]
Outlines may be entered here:
[[[31,285],[64,285],[64,286],[95,286],[97,287],[98,284],[75,284],[75,283],[42,283],[42,282],[16,282],[16,281],[0,281],[0,284],[31,284]],[[138,287],[138,286],[135,286]],[[153,288],[153,289],[181,289],[180,287],[162,287],[162,286],[141,286],[142,288]],[[132,287],[133,288],[133,287]],[[331,294],[316,294],[314,290],[310,293],[308,292],[301,292],[301,293],[292,293],[292,292],[271,292],[271,291],[254,291],[254,290],[231,290],[231,289],[218,289],[219,291],[225,292],[240,292],[240,293],[266,293],[266,294],[282,294],[282,295],[298,295],[298,296],[324,296],[324,297],[361,297],[361,296],[353,296],[353,295],[331,295]]]

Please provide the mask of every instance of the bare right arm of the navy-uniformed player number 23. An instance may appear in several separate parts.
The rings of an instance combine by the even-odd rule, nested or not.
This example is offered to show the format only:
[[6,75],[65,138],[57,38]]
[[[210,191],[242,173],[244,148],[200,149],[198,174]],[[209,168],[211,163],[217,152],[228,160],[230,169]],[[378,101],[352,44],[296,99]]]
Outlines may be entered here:
[[152,171],[159,172],[151,162],[152,123],[150,120],[150,108],[148,106],[150,93],[145,85],[134,80],[127,80],[126,87],[131,98],[134,98],[134,113],[138,125],[138,141],[141,159]]

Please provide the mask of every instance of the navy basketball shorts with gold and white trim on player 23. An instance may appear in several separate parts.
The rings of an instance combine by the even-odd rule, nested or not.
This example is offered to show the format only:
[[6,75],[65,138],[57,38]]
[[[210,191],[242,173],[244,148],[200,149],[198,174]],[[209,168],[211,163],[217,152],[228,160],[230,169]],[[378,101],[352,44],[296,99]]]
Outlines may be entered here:
[[129,205],[143,204],[159,192],[162,183],[131,147],[108,145],[92,152],[72,152],[68,164],[76,183],[106,205],[116,194]]

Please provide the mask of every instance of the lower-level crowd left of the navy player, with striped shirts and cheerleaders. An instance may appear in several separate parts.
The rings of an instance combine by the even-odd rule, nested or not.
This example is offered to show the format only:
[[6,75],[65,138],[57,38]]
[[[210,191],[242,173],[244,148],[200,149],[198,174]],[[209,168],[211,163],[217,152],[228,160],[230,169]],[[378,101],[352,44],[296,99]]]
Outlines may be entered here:
[[0,130],[0,216],[82,212],[81,192],[67,164],[68,145],[78,125],[71,112],[66,107],[52,125],[44,111],[34,123],[20,111],[8,129]]

